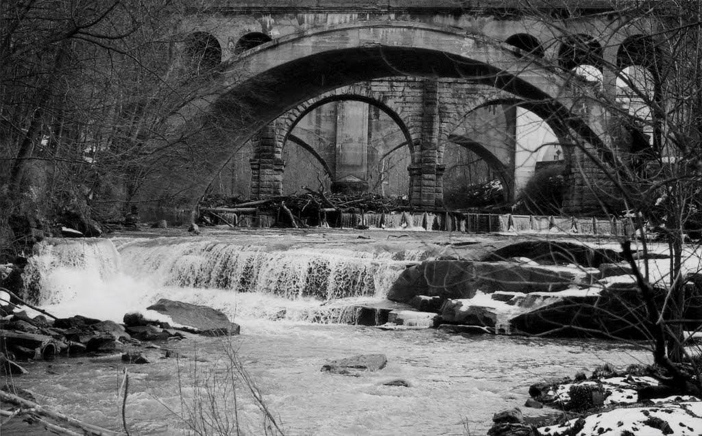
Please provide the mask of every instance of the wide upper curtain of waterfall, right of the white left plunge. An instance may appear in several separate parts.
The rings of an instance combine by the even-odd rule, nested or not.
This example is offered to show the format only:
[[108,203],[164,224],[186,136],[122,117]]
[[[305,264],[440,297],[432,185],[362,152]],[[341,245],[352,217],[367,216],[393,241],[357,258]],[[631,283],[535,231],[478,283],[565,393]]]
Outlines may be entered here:
[[[392,252],[267,247],[159,238],[120,248],[124,271],[161,285],[274,294],[294,300],[381,297],[406,264]],[[395,257],[395,259],[393,259]]]

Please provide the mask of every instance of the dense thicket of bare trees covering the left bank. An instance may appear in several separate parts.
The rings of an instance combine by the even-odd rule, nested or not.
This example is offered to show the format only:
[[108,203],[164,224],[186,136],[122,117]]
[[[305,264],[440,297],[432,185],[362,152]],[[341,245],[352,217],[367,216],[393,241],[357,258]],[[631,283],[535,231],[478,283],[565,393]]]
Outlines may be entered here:
[[183,26],[199,11],[180,0],[0,8],[1,245],[62,213],[121,214],[161,164],[168,117],[212,80],[220,46]]

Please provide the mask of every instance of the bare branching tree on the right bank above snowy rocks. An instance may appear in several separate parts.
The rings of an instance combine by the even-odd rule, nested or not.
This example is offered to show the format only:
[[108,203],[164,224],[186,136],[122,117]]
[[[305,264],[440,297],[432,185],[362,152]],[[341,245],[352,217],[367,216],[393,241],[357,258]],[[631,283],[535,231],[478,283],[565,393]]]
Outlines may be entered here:
[[[684,330],[702,325],[686,318],[690,299],[699,292],[692,284],[700,269],[694,264],[698,247],[689,239],[700,237],[702,224],[702,6],[688,0],[603,3],[604,12],[588,12],[578,1],[523,5],[527,17],[552,32],[545,45],[557,46],[557,66],[581,86],[590,86],[594,92],[588,98],[609,112],[609,137],[597,147],[576,135],[562,147],[577,149],[599,168],[606,183],[586,187],[599,198],[602,213],[625,214],[635,222],[643,259],[635,258],[632,240],[622,247],[640,291],[639,320],[655,362],[684,385],[690,375],[680,365],[690,359]],[[611,15],[602,15],[607,11]],[[600,14],[604,25],[581,33],[588,14]],[[534,50],[520,48],[536,60]],[[574,162],[566,179],[580,177],[588,185],[582,171]],[[654,264],[645,255],[647,230],[668,245],[665,269],[652,271]],[[694,367],[697,375],[699,370]]]

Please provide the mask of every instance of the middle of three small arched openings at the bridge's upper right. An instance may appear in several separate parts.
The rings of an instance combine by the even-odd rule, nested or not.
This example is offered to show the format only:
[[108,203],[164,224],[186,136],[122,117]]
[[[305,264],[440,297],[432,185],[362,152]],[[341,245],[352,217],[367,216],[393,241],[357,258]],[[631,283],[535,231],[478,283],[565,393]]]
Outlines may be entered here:
[[592,36],[577,34],[565,39],[558,50],[561,67],[590,83],[602,83],[602,46]]

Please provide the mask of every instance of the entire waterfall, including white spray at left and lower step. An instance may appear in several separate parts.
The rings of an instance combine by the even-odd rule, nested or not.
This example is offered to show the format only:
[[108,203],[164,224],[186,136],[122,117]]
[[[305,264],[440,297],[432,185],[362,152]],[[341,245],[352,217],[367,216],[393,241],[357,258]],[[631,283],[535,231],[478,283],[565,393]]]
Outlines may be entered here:
[[84,311],[100,306],[102,318],[121,320],[169,298],[207,304],[232,319],[352,322],[354,304],[383,299],[406,265],[426,256],[275,238],[253,244],[226,236],[48,240],[25,278],[34,301],[66,316],[81,313],[82,304]]

